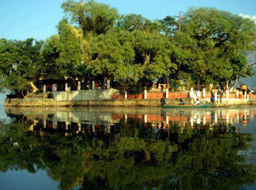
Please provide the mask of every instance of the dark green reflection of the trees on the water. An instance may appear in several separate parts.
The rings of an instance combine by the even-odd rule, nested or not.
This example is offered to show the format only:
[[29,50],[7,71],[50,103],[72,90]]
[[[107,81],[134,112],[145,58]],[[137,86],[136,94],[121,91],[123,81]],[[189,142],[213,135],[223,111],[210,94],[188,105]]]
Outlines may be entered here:
[[238,155],[252,135],[234,126],[156,130],[131,120],[110,133],[65,137],[38,135],[27,123],[1,125],[0,172],[43,169],[59,189],[237,189],[255,181],[255,167]]

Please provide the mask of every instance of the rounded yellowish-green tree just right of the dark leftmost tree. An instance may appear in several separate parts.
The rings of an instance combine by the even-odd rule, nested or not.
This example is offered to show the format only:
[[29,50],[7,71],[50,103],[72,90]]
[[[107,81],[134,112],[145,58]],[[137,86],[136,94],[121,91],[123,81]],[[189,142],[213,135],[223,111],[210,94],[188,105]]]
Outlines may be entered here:
[[78,77],[85,67],[88,43],[83,39],[83,31],[70,26],[63,19],[58,26],[59,34],[45,41],[40,52],[42,75],[51,77]]

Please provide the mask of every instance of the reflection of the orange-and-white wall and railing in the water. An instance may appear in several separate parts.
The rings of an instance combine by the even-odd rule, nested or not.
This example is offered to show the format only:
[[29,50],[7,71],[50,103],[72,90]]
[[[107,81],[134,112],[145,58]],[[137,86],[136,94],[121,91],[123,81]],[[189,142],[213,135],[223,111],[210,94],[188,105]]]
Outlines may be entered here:
[[[120,123],[138,121],[156,133],[159,130],[169,131],[173,126],[179,126],[177,133],[185,133],[187,129],[198,129],[208,125],[210,130],[221,124],[227,129],[235,124],[246,126],[255,118],[255,109],[209,109],[209,110],[109,110],[100,112],[99,109],[90,110],[55,110],[53,112],[39,112],[33,110],[8,109],[7,114],[14,123],[26,122],[29,130],[42,134],[61,133],[69,135],[110,134],[118,129]],[[26,118],[26,121],[24,119]]]

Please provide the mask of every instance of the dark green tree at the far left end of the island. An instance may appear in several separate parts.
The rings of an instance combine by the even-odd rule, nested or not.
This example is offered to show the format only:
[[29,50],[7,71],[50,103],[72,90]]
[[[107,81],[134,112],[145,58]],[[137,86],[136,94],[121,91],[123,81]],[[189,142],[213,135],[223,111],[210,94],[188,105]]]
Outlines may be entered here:
[[0,70],[5,80],[4,88],[15,91],[17,96],[25,97],[29,86],[40,75],[39,50],[42,41],[35,39],[0,39]]

